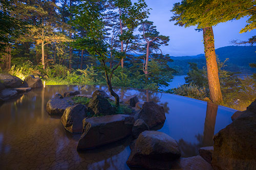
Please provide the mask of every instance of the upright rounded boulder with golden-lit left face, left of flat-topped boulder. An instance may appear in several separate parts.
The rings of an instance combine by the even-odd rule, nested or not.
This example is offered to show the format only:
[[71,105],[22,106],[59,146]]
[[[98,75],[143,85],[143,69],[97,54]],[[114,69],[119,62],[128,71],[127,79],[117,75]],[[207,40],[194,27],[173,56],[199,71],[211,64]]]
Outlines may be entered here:
[[87,116],[87,108],[78,104],[67,107],[61,116],[60,122],[64,128],[71,133],[82,132],[82,120]]

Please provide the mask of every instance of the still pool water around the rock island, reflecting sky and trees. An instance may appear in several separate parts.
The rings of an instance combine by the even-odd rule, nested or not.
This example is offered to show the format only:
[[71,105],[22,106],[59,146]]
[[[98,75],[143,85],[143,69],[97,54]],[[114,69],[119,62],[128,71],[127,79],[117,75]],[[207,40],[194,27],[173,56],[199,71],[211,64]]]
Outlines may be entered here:
[[[131,137],[98,149],[78,153],[79,135],[64,130],[60,120],[51,118],[46,103],[56,93],[79,90],[92,94],[105,86],[46,86],[33,89],[19,99],[0,106],[0,167],[3,169],[89,168],[129,169]],[[194,156],[198,149],[212,145],[212,136],[231,123],[235,110],[173,94],[148,90],[115,89],[121,99],[136,94],[139,100],[164,107],[166,121],[159,130],[176,139],[182,156]]]

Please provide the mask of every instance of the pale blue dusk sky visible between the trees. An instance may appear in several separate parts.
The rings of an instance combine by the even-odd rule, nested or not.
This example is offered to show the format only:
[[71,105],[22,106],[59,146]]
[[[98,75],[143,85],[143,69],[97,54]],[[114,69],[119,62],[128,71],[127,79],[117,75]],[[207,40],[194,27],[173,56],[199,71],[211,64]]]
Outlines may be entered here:
[[[148,20],[154,22],[160,34],[170,37],[169,45],[161,48],[164,54],[171,56],[191,56],[204,53],[203,32],[195,31],[196,27],[183,28],[175,26],[174,21],[169,21],[173,15],[170,12],[173,4],[180,1],[145,0],[145,2],[149,8],[152,8]],[[234,45],[230,41],[235,39],[247,40],[253,35],[256,35],[256,30],[240,34],[239,31],[245,25],[246,18],[242,18],[240,20],[220,23],[214,27],[215,47]]]

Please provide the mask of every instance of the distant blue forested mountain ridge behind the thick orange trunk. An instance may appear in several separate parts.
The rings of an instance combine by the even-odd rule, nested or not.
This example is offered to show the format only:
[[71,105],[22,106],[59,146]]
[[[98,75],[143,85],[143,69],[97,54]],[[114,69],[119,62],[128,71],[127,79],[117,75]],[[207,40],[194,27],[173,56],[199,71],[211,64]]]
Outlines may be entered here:
[[[252,74],[256,70],[249,67],[249,63],[256,62],[256,46],[224,46],[215,50],[220,61],[229,60],[225,63],[228,71],[241,72],[242,74]],[[196,56],[171,56],[174,62],[169,62],[169,66],[179,71],[178,75],[186,75],[189,70],[188,62],[195,62],[199,68],[206,66],[204,54]]]

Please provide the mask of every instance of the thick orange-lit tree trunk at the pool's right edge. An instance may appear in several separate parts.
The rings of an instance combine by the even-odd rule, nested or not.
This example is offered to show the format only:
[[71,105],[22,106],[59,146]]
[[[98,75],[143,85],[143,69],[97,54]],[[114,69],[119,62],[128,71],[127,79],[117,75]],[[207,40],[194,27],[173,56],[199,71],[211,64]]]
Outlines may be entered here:
[[212,31],[212,27],[203,28],[203,37],[210,99],[215,104],[220,104],[223,102],[223,99],[215,54],[214,32]]

